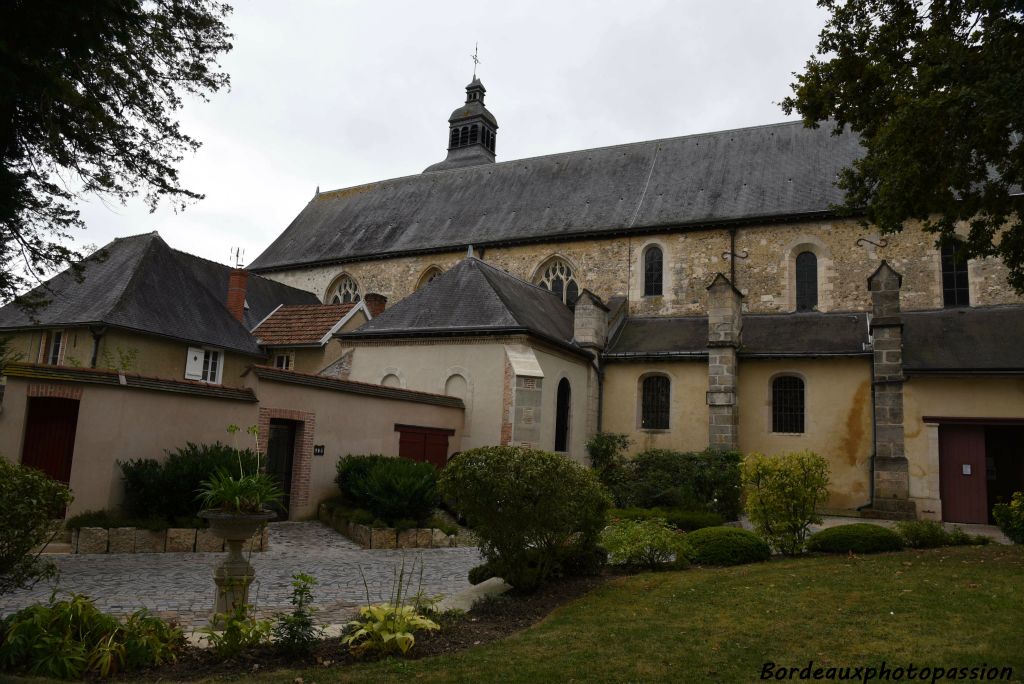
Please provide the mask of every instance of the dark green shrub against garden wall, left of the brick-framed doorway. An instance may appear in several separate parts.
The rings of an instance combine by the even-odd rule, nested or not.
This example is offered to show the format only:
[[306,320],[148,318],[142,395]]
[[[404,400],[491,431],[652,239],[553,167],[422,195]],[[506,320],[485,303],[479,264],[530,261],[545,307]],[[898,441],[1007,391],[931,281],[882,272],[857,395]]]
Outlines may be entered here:
[[[125,485],[122,508],[126,517],[136,519],[162,518],[171,523],[176,519],[196,518],[203,509],[199,491],[204,481],[220,470],[238,473],[255,472],[256,453],[238,450],[222,442],[195,444],[168,452],[160,462],[154,459],[133,459],[119,462]],[[165,525],[166,526],[166,525]]]

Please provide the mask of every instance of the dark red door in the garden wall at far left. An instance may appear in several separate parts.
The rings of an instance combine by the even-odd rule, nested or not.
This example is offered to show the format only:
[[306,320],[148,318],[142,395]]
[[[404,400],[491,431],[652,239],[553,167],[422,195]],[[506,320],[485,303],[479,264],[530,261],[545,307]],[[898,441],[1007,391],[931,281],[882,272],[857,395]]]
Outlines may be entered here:
[[36,396],[29,399],[22,465],[38,468],[52,479],[71,481],[71,460],[78,429],[78,401]]

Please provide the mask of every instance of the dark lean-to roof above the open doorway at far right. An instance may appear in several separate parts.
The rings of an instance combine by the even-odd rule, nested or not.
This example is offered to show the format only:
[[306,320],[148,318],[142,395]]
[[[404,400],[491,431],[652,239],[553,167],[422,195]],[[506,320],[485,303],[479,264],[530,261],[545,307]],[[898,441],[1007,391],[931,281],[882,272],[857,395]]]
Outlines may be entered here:
[[903,369],[908,375],[1024,372],[1024,306],[904,312]]

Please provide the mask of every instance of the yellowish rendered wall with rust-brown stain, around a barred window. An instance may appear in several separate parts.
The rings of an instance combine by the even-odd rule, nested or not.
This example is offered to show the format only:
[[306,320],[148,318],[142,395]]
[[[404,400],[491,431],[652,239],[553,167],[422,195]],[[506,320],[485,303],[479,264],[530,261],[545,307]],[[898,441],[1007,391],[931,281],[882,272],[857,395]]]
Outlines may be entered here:
[[[771,431],[771,383],[781,374],[804,379],[803,434]],[[771,455],[810,450],[828,461],[829,508],[853,509],[869,503],[870,359],[742,359],[738,375],[740,451]]]

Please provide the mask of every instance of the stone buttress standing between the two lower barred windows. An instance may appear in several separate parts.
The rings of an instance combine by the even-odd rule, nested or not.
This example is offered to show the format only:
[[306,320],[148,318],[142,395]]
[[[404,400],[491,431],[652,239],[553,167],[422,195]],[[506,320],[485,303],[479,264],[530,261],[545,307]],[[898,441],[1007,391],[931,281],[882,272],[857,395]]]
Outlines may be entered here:
[[708,445],[719,451],[739,447],[736,349],[741,299],[722,273],[708,287]]

